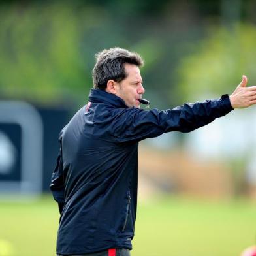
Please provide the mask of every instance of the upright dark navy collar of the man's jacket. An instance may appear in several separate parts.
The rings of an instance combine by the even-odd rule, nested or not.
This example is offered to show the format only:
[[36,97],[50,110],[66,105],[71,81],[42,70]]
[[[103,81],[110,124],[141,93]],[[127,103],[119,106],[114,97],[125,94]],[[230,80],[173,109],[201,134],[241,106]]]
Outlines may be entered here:
[[123,99],[112,93],[107,93],[102,89],[91,89],[89,101],[92,103],[111,104],[112,106],[116,106],[116,108],[127,108]]

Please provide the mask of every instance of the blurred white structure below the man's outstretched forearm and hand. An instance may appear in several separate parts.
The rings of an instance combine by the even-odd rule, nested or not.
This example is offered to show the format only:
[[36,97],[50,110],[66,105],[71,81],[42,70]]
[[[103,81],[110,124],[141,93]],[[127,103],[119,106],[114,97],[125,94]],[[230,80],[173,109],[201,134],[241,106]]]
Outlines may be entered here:
[[248,182],[256,185],[255,107],[234,110],[214,122],[188,133],[185,148],[200,160],[246,159]]

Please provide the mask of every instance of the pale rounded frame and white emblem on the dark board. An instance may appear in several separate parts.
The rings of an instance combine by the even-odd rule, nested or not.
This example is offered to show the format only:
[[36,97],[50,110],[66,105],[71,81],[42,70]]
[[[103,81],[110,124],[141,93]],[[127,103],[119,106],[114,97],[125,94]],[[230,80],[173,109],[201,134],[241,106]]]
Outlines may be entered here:
[[[22,101],[0,101],[0,123],[19,125],[21,138],[21,179],[0,180],[0,193],[39,195],[42,193],[43,125],[39,112]],[[16,149],[0,134],[0,170],[8,172],[16,161]]]

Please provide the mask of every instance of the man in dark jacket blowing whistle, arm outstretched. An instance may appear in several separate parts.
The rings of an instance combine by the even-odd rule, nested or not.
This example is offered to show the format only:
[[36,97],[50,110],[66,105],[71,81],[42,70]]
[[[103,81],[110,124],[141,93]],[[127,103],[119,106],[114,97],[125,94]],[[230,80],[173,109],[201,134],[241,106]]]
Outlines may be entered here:
[[141,110],[143,63],[121,48],[99,52],[89,102],[59,135],[50,185],[61,213],[57,255],[130,255],[138,142],[169,131],[193,131],[256,103],[256,86],[247,88],[243,76],[230,96],[172,110]]

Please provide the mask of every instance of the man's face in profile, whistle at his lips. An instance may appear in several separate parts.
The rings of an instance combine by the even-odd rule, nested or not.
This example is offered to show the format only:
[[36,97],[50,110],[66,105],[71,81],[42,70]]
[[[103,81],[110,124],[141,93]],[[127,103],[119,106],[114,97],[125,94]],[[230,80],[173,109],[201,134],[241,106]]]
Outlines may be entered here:
[[116,96],[125,101],[125,104],[132,108],[140,108],[138,99],[142,98],[145,90],[142,86],[140,69],[133,64],[125,63],[127,77],[116,86]]

